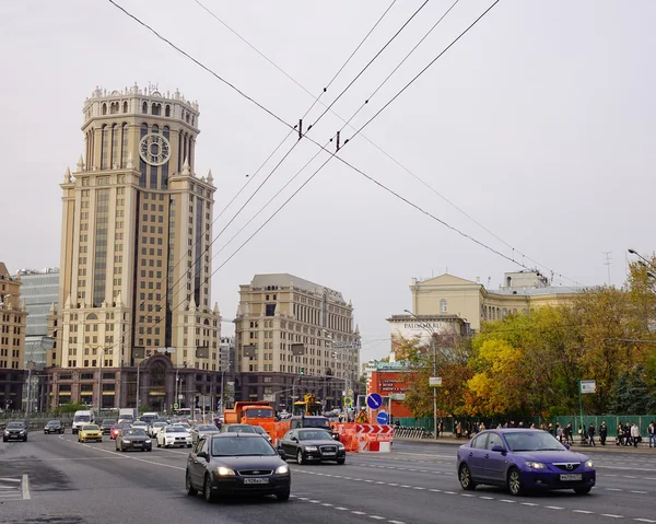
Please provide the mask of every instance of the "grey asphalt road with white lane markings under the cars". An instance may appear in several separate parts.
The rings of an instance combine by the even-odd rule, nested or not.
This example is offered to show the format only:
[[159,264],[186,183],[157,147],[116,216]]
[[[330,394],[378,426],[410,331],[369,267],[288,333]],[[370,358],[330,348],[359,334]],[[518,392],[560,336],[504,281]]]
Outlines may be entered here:
[[0,522],[115,524],[215,522],[389,524],[570,522],[656,523],[656,450],[596,452],[589,496],[513,498],[496,488],[460,489],[453,445],[397,442],[391,454],[350,454],[347,464],[292,468],[292,498],[207,504],[184,491],[187,450],[120,454],[114,442],[33,432],[0,443]]

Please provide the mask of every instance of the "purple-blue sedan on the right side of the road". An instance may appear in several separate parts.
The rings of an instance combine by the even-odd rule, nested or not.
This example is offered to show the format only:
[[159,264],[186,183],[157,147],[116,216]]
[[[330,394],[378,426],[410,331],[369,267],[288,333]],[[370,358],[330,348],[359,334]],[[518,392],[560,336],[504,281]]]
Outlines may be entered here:
[[514,496],[552,489],[586,494],[596,478],[593,461],[570,451],[547,431],[482,431],[458,450],[458,479],[466,490],[484,484],[505,486]]

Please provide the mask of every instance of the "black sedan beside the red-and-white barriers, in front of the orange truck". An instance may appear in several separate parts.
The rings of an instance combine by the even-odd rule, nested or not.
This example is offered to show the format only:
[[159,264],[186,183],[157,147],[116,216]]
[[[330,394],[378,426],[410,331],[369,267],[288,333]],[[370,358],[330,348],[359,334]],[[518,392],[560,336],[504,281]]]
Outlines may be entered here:
[[278,447],[285,455],[295,457],[298,464],[306,462],[335,461],[343,464],[347,461],[347,449],[336,442],[325,429],[298,428],[288,431]]

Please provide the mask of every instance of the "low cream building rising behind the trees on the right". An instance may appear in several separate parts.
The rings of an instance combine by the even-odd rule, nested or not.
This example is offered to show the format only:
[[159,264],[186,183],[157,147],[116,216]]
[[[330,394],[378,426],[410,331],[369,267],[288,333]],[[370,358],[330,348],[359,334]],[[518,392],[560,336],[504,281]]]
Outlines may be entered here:
[[499,290],[488,290],[480,282],[445,273],[423,281],[412,279],[410,291],[413,314],[457,315],[478,331],[483,321],[526,313],[531,307],[569,303],[579,290],[550,286],[537,271],[516,271],[504,275],[504,286]]

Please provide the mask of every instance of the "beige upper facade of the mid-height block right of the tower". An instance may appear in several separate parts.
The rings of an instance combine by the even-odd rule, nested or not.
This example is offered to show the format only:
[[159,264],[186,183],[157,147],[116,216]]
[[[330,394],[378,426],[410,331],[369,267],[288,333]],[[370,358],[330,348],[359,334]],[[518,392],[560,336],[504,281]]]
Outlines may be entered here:
[[[360,333],[342,294],[288,273],[256,275],[239,287],[236,365],[241,372],[358,380]],[[303,345],[303,353],[296,346]],[[254,347],[253,356],[245,347]]]

